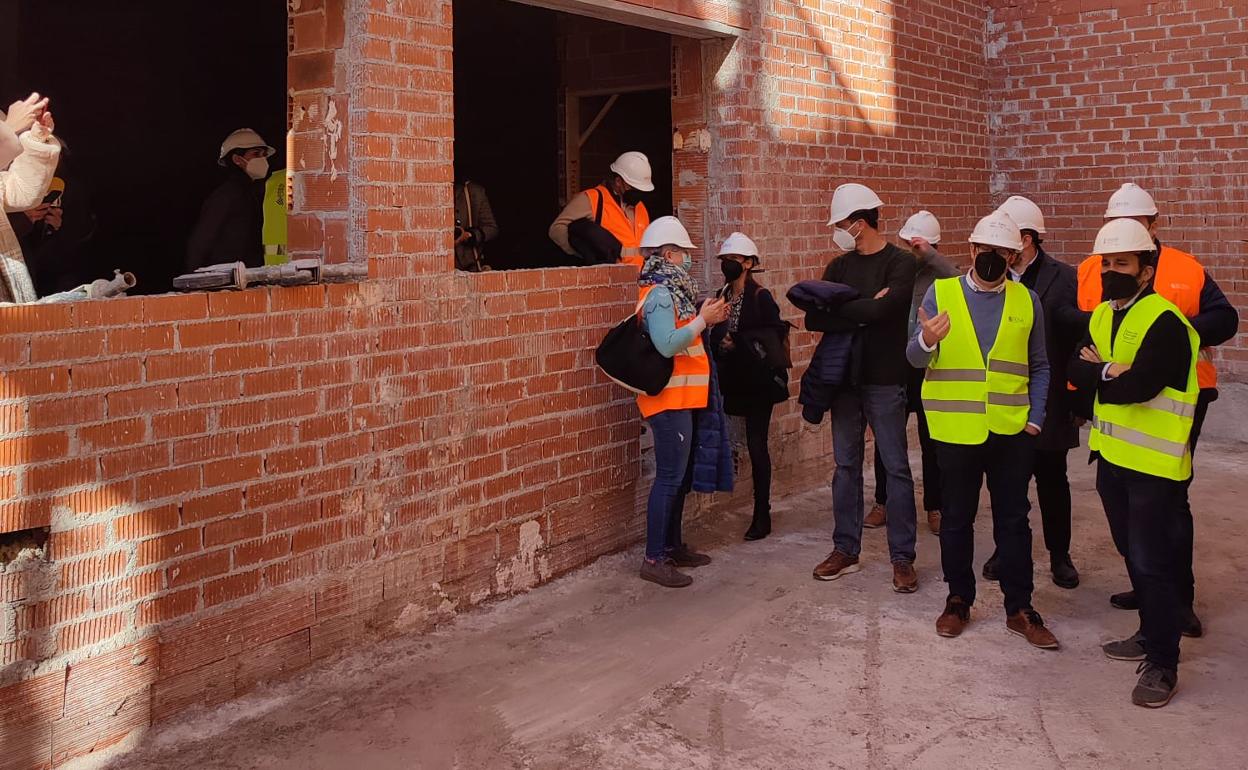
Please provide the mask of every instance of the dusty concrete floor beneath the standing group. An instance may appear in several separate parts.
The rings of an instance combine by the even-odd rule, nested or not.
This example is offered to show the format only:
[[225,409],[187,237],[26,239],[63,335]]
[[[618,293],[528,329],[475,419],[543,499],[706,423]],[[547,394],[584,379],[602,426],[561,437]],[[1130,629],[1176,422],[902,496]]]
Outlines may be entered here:
[[945,592],[926,530],[917,594],[892,593],[882,530],[866,533],[861,573],[812,580],[831,540],[820,490],[779,504],[768,540],[741,543],[740,517],[693,533],[716,560],[689,589],[638,580],[638,552],[608,557],[434,634],[188,715],[109,766],[1242,768],[1243,448],[1201,448],[1198,605],[1209,633],[1184,640],[1179,694],[1162,710],[1132,706],[1134,664],[1098,649],[1136,619],[1106,600],[1124,572],[1078,451],[1083,584],[1056,588],[1037,560],[1035,603],[1061,651],[1007,634],[995,585],[981,587],[961,639],[938,638]]

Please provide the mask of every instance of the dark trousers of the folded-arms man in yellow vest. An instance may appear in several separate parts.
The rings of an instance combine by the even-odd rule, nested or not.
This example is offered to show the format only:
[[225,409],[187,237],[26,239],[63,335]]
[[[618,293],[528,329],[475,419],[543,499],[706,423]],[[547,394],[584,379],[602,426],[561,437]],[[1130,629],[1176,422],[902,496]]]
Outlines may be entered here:
[[1174,482],[1097,462],[1096,490],[1109,520],[1109,533],[1127,562],[1139,602],[1139,630],[1149,663],[1178,666],[1181,500],[1184,482]]

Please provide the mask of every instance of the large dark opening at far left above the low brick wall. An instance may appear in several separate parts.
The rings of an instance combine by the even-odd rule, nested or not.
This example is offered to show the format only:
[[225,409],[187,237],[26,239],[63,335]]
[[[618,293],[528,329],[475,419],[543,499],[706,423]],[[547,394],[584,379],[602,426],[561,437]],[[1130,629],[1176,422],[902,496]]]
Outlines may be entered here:
[[89,270],[168,291],[226,135],[255,129],[277,149],[271,166],[286,166],[286,2],[2,2],[16,6],[17,55],[0,99],[51,96],[70,149],[66,206],[79,185],[96,217]]

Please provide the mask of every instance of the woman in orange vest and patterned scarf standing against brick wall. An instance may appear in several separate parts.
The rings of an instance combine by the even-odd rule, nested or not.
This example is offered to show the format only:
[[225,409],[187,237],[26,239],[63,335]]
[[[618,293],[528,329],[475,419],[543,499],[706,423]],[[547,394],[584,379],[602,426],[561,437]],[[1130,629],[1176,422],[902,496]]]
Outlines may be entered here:
[[[693,487],[695,454],[703,456],[713,437],[699,431],[700,412],[713,409],[710,361],[703,331],[728,318],[728,303],[713,298],[698,307],[698,282],[689,268],[696,248],[675,217],[659,217],[646,227],[639,246],[645,265],[638,277],[638,309],[654,347],[671,358],[671,379],[658,396],[640,394],[636,404],[654,433],[654,484],[645,509],[645,558],[641,579],[664,588],[684,588],[693,578],[678,568],[710,564],[710,557],[684,543],[680,525],[685,495]],[[728,439],[723,436],[720,442]]]

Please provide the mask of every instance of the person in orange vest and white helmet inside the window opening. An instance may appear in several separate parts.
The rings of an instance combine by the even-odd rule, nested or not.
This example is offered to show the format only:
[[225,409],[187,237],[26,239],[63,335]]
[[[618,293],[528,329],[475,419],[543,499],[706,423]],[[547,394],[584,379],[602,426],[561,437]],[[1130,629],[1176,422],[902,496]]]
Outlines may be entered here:
[[[550,240],[564,253],[589,263],[619,261],[640,270],[644,262],[641,233],[650,225],[643,201],[645,193],[654,192],[650,161],[640,152],[625,152],[615,158],[610,170],[603,183],[568,201],[550,225]],[[603,235],[610,235],[614,241],[599,237]],[[618,256],[615,242],[619,243]]]

